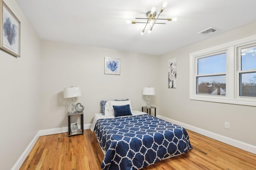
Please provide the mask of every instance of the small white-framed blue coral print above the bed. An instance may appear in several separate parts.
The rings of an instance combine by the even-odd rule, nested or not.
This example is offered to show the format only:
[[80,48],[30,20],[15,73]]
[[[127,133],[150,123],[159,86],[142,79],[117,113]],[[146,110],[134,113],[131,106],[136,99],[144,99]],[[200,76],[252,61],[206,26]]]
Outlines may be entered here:
[[120,75],[120,59],[105,57],[105,74]]

